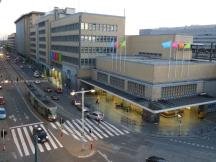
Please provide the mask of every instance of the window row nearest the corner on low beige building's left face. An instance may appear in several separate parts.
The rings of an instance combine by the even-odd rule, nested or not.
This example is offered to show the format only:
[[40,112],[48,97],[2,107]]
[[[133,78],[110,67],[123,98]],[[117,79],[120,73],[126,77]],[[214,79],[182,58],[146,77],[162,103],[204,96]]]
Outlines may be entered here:
[[128,81],[128,92],[136,96],[145,96],[145,86],[132,81]]

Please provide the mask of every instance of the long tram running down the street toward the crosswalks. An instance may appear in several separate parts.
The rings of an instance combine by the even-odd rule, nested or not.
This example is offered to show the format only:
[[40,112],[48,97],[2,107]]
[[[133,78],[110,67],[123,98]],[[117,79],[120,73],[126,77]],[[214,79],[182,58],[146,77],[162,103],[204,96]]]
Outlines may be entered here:
[[50,102],[48,97],[36,86],[28,85],[27,98],[34,109],[48,121],[57,120],[57,106]]

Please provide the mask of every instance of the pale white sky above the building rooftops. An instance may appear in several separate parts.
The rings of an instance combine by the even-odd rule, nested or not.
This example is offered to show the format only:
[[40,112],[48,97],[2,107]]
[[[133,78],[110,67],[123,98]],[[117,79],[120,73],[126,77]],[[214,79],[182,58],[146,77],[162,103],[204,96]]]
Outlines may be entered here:
[[54,7],[126,16],[126,34],[139,29],[216,24],[215,0],[0,0],[0,39],[16,31],[14,21],[31,11]]

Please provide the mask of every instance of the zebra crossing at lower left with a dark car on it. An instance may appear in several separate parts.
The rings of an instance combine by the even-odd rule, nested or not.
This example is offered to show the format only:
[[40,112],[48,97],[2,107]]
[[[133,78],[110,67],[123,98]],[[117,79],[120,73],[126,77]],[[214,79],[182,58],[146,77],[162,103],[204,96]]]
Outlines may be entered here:
[[42,127],[49,137],[48,142],[37,144],[40,152],[51,151],[63,147],[53,133],[44,127],[42,122],[11,127],[10,131],[12,138],[21,157],[35,154],[35,144],[32,138],[32,131],[33,127],[38,126]]

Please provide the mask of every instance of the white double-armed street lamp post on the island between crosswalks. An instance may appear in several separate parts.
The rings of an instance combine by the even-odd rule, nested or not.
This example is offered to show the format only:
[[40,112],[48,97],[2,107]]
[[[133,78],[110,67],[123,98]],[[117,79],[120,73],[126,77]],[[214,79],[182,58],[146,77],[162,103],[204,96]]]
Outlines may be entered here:
[[84,150],[84,94],[87,93],[87,92],[91,92],[91,93],[94,93],[95,90],[94,89],[91,89],[91,90],[84,90],[84,88],[81,89],[81,91],[73,91],[70,93],[71,96],[74,96],[75,94],[78,94],[78,93],[81,93],[82,94],[82,150]]

